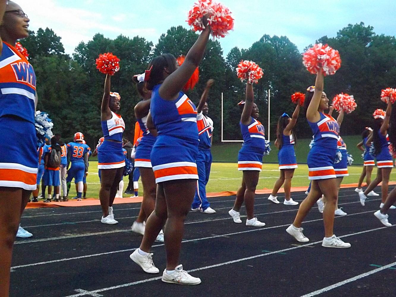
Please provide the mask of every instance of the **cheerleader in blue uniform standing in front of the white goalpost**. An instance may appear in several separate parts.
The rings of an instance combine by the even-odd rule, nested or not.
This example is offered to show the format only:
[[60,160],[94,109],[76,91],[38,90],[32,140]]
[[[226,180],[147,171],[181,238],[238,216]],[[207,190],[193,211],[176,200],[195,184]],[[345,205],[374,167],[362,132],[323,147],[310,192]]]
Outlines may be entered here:
[[241,127],[244,143],[238,153],[238,170],[242,170],[242,185],[236,192],[234,207],[228,211],[234,219],[234,223],[242,223],[240,219],[240,209],[245,202],[246,226],[264,227],[265,223],[260,222],[254,216],[254,196],[259,182],[261,166],[263,166],[263,156],[265,151],[264,126],[257,120],[259,108],[254,103],[253,85],[246,84],[246,102],[238,103],[243,106]]

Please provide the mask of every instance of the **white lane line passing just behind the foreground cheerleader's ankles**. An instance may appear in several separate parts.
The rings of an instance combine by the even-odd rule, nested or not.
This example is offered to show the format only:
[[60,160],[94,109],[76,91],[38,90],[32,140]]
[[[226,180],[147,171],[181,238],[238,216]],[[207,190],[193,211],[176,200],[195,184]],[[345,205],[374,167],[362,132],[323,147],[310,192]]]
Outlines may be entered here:
[[[360,212],[360,213],[352,213],[352,214],[346,215],[344,217],[348,217],[348,216],[352,216],[352,215],[360,215],[360,214],[369,213],[369,212],[373,212],[373,210],[364,211],[364,212]],[[336,217],[336,218],[343,218],[343,217]],[[322,218],[321,219],[310,220],[310,221],[305,221],[305,222],[303,222],[303,224],[304,223],[312,223],[312,222],[321,221],[321,220],[322,220]],[[245,231],[240,231],[240,232],[232,232],[232,233],[228,233],[228,234],[220,234],[220,235],[207,236],[207,237],[196,238],[196,239],[188,239],[188,240],[183,240],[182,243],[184,243],[184,242],[196,242],[196,241],[200,241],[200,240],[207,240],[207,239],[212,239],[212,238],[219,238],[219,237],[243,234],[243,233],[248,233],[248,232],[257,232],[257,231],[263,231],[263,230],[269,230],[269,229],[275,229],[275,228],[281,228],[281,227],[289,227],[289,225],[290,224],[284,224],[284,225],[272,226],[272,227],[267,227],[267,228],[250,229],[250,230],[245,230]],[[387,227],[383,227],[383,228],[387,228]],[[339,236],[339,237],[341,237],[341,236]],[[152,247],[158,247],[158,246],[164,246],[164,244],[156,244],[156,245],[153,245]],[[36,266],[36,265],[45,265],[45,264],[50,264],[50,263],[57,263],[57,262],[70,261],[70,260],[83,259],[83,258],[90,258],[90,257],[98,257],[98,256],[109,255],[109,254],[114,254],[114,253],[123,253],[123,252],[126,252],[126,251],[134,251],[135,249],[137,249],[137,247],[134,247],[134,248],[131,248],[131,249],[121,249],[121,250],[118,250],[118,251],[109,251],[109,252],[105,252],[105,253],[97,253],[97,254],[92,254],[92,255],[85,255],[85,256],[64,258],[64,259],[51,260],[51,261],[38,262],[38,263],[31,263],[31,264],[25,264],[25,265],[18,265],[18,266],[11,267],[11,269],[30,267],[30,266]]]

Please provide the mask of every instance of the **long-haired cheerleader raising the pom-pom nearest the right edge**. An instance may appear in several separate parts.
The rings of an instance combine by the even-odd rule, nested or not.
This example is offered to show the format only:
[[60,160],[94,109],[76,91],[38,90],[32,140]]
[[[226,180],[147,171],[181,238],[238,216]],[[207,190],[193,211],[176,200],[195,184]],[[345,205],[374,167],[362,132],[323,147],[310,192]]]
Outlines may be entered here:
[[[392,113],[392,103],[390,100],[388,102],[388,107],[386,108],[385,117],[381,115],[374,116],[374,126],[373,133],[367,139],[367,143],[371,143],[374,146],[374,156],[377,159],[377,177],[369,184],[364,192],[359,192],[359,199],[362,206],[367,199],[368,194],[374,190],[379,183],[381,183],[381,204],[380,208],[384,206],[386,197],[388,196],[388,183],[390,172],[393,168],[392,155],[389,152],[389,119]],[[391,209],[396,208],[392,206]]]

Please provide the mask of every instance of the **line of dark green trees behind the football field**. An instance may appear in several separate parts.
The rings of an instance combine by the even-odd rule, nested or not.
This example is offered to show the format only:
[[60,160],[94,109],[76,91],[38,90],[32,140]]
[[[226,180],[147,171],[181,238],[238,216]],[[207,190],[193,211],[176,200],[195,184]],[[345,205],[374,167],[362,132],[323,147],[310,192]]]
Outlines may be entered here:
[[[133,139],[133,107],[140,98],[132,76],[142,73],[156,55],[186,55],[196,38],[197,33],[182,26],[171,27],[160,36],[155,46],[141,36],[129,38],[120,35],[110,39],[98,33],[92,40],[80,42],[72,57],[65,54],[61,37],[48,28],[31,31],[21,43],[27,48],[29,61],[36,72],[38,109],[49,113],[54,122],[54,132],[69,140],[80,131],[93,146],[102,136],[100,105],[105,80],[105,75],[95,67],[97,56],[110,51],[121,59],[120,71],[112,78],[112,91],[121,95],[120,113],[126,123],[125,135]],[[360,134],[371,124],[373,110],[385,108],[379,100],[381,89],[396,87],[395,37],[375,34],[373,27],[360,23],[339,30],[335,37],[323,36],[317,42],[338,49],[342,59],[337,73],[325,78],[327,97],[331,100],[337,93],[349,93],[354,95],[358,104],[356,110],[345,117],[341,135]],[[255,101],[260,109],[259,120],[267,127],[267,90],[270,90],[271,139],[279,116],[293,112],[295,106],[291,103],[291,94],[305,92],[314,84],[315,76],[305,69],[297,46],[286,36],[264,34],[248,49],[232,48],[225,58],[219,41],[209,40],[199,66],[200,80],[187,95],[198,103],[206,81],[215,79],[208,99],[209,116],[215,127],[215,143],[221,140],[221,93],[224,97],[223,137],[226,140],[241,139],[237,103],[244,99],[245,83],[238,80],[235,72],[241,59],[252,60],[263,68],[263,78],[254,85]],[[299,138],[312,136],[303,112],[295,132]]]

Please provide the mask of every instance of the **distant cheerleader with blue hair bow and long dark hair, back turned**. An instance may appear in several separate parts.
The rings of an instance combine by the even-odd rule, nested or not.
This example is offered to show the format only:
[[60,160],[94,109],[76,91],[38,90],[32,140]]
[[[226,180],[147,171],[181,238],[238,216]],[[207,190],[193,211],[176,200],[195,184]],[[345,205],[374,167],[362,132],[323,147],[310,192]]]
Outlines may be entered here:
[[276,127],[276,141],[275,145],[279,148],[278,162],[280,169],[280,177],[276,180],[274,188],[272,189],[271,195],[268,200],[279,203],[278,191],[280,187],[284,185],[285,200],[284,205],[297,205],[290,197],[291,179],[293,178],[294,170],[297,168],[297,160],[294,152],[294,145],[296,143],[296,137],[293,132],[293,128],[297,123],[297,118],[300,113],[300,101],[297,101],[297,106],[293,112],[291,118],[285,112],[280,116],[278,120],[278,126]]

